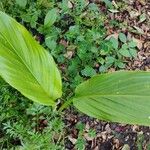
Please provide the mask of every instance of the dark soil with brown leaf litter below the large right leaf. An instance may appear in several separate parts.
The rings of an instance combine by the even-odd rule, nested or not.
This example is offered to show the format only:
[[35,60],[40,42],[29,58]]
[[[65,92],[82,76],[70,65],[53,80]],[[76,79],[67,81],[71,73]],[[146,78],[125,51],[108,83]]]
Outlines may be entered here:
[[[99,121],[72,109],[65,114],[66,150],[76,150],[75,142],[79,135],[76,125],[79,122],[85,125],[85,150],[150,150],[150,127]],[[88,136],[89,129],[96,131],[96,137]]]

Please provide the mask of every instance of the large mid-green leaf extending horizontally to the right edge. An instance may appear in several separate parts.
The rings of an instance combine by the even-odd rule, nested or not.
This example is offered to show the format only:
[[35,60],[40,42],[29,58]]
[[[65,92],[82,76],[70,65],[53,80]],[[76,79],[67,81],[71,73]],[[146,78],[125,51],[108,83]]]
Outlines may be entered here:
[[73,104],[105,121],[150,125],[150,72],[102,74],[80,84]]

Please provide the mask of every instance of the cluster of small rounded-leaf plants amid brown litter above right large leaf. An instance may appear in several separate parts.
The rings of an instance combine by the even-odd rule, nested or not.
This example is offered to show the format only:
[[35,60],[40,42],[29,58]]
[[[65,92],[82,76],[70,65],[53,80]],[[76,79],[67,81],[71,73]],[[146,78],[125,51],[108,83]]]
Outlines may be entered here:
[[111,37],[106,45],[103,45],[102,55],[106,55],[105,60],[101,59],[102,64],[99,68],[100,72],[105,72],[108,68],[115,66],[115,68],[123,69],[125,68],[125,62],[123,62],[123,57],[125,58],[136,58],[137,57],[137,44],[131,40],[127,39],[124,33],[119,33],[117,38]]

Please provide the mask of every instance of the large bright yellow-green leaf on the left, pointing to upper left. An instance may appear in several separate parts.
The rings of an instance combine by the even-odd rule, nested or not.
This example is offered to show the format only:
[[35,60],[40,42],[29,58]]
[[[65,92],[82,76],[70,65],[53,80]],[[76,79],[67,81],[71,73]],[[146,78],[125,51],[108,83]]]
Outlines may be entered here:
[[0,76],[29,99],[55,105],[61,77],[52,56],[14,19],[0,12]]

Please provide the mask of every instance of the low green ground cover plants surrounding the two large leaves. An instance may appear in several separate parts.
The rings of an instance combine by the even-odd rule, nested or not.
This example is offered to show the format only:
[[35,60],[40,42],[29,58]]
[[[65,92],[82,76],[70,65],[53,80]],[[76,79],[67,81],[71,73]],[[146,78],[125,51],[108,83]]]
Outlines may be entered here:
[[[119,10],[109,1],[101,5],[112,13]],[[64,87],[58,103],[69,99],[77,85],[88,78],[112,68],[125,69],[129,61],[137,58],[137,40],[124,31],[108,36],[107,15],[94,2],[2,0],[0,9],[24,25],[55,59]],[[140,22],[146,17],[142,14]],[[122,28],[124,24],[112,20],[108,25]],[[142,34],[139,27],[134,29]],[[66,149],[63,116],[50,107],[32,103],[2,79],[0,92],[1,149]],[[78,138],[70,141],[74,148],[85,149],[84,124],[78,123],[75,128]],[[86,132],[88,138],[96,137],[95,129]],[[143,146],[140,141],[141,137],[138,148]]]

